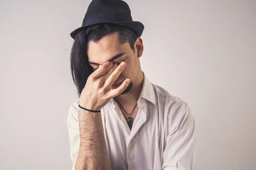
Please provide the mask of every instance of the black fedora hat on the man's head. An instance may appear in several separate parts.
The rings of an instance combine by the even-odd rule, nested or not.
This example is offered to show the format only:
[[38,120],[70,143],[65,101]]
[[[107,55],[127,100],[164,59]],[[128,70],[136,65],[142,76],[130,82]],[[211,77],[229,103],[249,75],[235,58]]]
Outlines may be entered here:
[[70,33],[75,39],[76,34],[87,26],[96,23],[114,23],[131,28],[137,37],[143,33],[144,26],[133,21],[128,4],[122,0],[92,0],[84,16],[82,26]]

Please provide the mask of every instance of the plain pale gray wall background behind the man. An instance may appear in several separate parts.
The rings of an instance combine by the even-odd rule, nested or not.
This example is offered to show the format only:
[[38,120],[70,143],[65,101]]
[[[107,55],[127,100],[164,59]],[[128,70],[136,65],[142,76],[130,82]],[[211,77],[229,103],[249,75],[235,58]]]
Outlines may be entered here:
[[[126,2],[146,76],[192,109],[198,170],[256,170],[256,1]],[[1,170],[71,170],[69,34],[89,3],[0,1]]]

